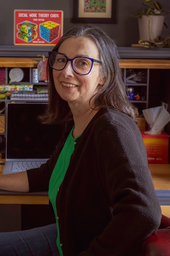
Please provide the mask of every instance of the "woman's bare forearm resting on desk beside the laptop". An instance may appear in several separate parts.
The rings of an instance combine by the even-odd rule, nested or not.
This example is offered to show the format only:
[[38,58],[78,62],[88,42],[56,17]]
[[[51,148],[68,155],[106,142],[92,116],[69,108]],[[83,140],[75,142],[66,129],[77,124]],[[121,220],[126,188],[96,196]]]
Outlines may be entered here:
[[29,184],[27,172],[0,175],[0,189],[15,192],[28,192]]

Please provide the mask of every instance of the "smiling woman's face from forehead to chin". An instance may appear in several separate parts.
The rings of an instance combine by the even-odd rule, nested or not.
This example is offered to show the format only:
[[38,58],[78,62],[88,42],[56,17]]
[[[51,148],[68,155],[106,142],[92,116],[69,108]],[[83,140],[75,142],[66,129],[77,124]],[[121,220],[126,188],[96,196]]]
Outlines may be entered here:
[[[90,38],[67,38],[59,46],[58,52],[64,53],[69,59],[85,56],[100,60],[97,45]],[[63,70],[53,69],[54,84],[60,97],[74,105],[89,104],[90,98],[102,84],[100,65],[94,62],[88,75],[75,73],[71,61],[67,62]]]

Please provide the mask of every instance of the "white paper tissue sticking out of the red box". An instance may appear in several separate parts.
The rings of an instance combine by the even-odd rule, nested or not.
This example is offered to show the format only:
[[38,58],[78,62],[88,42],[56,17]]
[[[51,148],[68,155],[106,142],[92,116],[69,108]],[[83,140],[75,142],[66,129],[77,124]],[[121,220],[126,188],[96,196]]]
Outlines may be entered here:
[[164,106],[152,107],[142,110],[144,118],[150,126],[147,134],[161,134],[164,126],[170,121],[170,113]]

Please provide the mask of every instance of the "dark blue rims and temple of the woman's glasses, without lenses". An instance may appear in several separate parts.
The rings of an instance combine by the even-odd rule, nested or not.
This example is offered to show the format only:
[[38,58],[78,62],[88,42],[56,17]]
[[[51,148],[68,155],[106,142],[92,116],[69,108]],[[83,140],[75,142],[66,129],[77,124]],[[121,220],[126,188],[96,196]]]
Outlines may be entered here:
[[[77,57],[74,57],[74,58],[72,58],[72,59],[69,59],[64,53],[59,53],[59,54],[63,55],[63,56],[66,58],[67,61],[66,61],[66,63],[65,63],[64,68],[62,68],[62,69],[56,69],[56,68],[53,68],[52,65],[51,65],[51,63],[50,63],[50,54],[51,54],[51,53],[59,53],[59,52],[53,52],[53,51],[49,52],[49,64],[50,64],[50,67],[51,67],[52,69],[57,70],[57,71],[63,70],[63,69],[66,67],[68,61],[71,61],[71,67],[72,67],[72,69],[74,70],[74,72],[75,72],[76,74],[78,74],[78,75],[88,75],[88,74],[91,72],[91,70],[92,70],[92,66],[93,66],[93,63],[94,63],[94,62],[97,62],[97,63],[99,63],[99,64],[102,64],[102,62],[101,62],[100,60],[95,60],[95,59],[92,59],[92,58],[89,58],[89,57],[77,56]],[[90,68],[90,70],[89,70],[89,72],[88,72],[87,74],[79,74],[78,72],[76,72],[76,70],[75,70],[75,68],[74,68],[74,65],[73,65],[73,61],[74,61],[75,59],[77,59],[77,58],[85,58],[85,59],[88,59],[88,60],[91,60],[91,61],[92,61],[91,68]]]

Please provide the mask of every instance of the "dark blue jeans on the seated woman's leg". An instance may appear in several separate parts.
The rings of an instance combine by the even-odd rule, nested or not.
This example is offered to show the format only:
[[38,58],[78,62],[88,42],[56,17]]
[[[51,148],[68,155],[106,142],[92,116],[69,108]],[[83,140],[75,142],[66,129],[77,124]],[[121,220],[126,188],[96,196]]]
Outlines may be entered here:
[[59,256],[56,224],[0,233],[0,256]]

